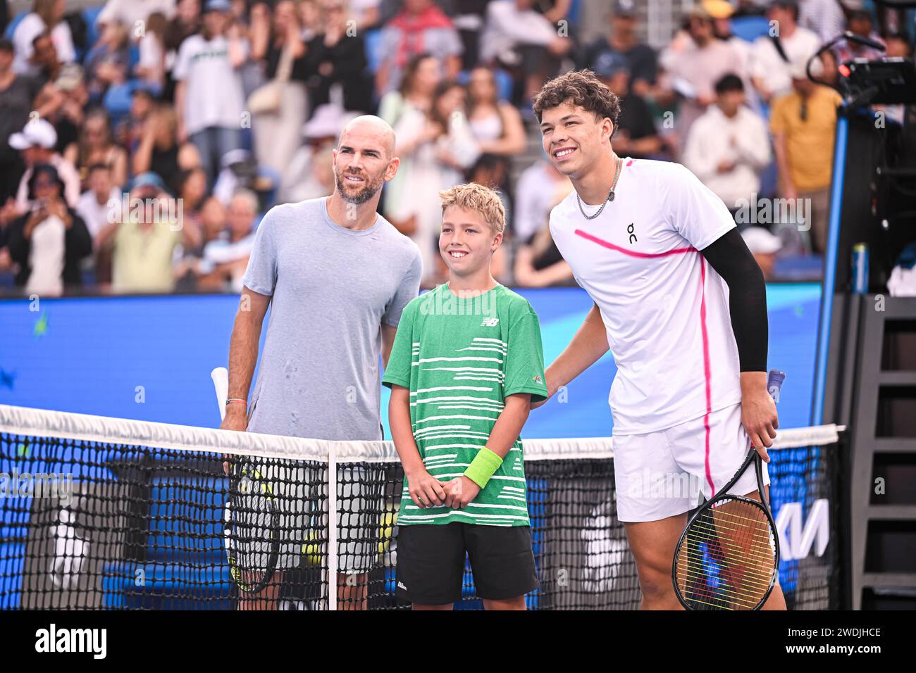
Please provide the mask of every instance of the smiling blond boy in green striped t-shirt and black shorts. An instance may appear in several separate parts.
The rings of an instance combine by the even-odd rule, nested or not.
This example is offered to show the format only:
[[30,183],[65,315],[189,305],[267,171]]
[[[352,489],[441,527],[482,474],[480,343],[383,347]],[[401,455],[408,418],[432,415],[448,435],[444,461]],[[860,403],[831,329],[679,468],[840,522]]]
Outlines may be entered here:
[[547,396],[540,326],[490,274],[506,220],[496,191],[440,196],[449,281],[404,309],[383,378],[405,473],[397,592],[415,610],[451,609],[467,554],[486,609],[524,610],[538,580],[519,432]]

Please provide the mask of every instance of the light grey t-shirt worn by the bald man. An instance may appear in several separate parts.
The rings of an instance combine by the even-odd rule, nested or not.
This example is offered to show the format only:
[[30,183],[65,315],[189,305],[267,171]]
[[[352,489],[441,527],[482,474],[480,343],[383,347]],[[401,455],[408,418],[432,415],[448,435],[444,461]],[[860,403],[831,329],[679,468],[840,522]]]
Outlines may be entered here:
[[272,208],[242,282],[271,295],[248,430],[379,440],[381,324],[420,292],[420,250],[382,216],[354,232],[328,197]]

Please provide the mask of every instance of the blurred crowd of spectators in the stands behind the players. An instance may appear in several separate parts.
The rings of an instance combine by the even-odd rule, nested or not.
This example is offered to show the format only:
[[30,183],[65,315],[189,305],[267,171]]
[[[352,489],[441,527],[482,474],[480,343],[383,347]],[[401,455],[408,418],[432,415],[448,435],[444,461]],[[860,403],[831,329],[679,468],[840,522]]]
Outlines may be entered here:
[[[845,60],[912,59],[911,14],[861,0],[702,0],[660,49],[646,3],[612,0],[34,0],[0,39],[0,286],[57,294],[237,291],[271,206],[329,195],[358,114],[397,134],[382,212],[442,280],[438,192],[500,190],[496,277],[573,285],[547,226],[573,189],[530,101],[590,68],[621,98],[613,146],[680,161],[769,278],[825,244]],[[603,34],[584,39],[583,17]],[[842,40],[844,30],[882,53]],[[811,81],[808,75],[824,83]],[[889,110],[889,122],[894,121]],[[805,204],[779,212],[774,200]],[[769,201],[768,201],[769,200]],[[769,205],[768,205],[769,204]],[[785,210],[785,209],[781,209]]]

